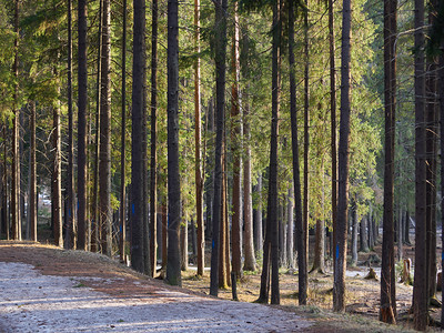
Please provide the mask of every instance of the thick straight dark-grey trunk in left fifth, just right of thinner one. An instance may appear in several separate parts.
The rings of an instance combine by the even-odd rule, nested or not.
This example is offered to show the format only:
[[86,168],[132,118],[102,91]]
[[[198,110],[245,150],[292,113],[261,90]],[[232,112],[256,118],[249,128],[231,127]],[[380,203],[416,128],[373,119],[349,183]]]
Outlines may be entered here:
[[[88,105],[88,69],[87,69],[87,1],[79,0],[79,58],[78,58],[78,243],[77,248],[87,250],[87,105]],[[95,222],[95,221],[94,221]]]

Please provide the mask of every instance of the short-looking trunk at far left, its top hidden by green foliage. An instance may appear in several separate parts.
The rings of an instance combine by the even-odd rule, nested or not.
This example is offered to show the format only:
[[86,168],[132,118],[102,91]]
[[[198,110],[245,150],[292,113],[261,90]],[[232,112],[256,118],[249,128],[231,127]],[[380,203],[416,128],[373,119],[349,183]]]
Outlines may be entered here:
[[[37,163],[36,163],[36,102],[30,102],[31,108],[31,121],[30,121],[30,131],[31,131],[31,163],[30,163],[30,173],[31,173],[31,183],[29,191],[29,216],[30,216],[30,226],[31,226],[31,241],[37,242]],[[6,142],[4,142],[6,144]],[[3,170],[6,172],[6,170]],[[4,185],[4,183],[3,183]],[[3,193],[4,189],[3,189]]]

